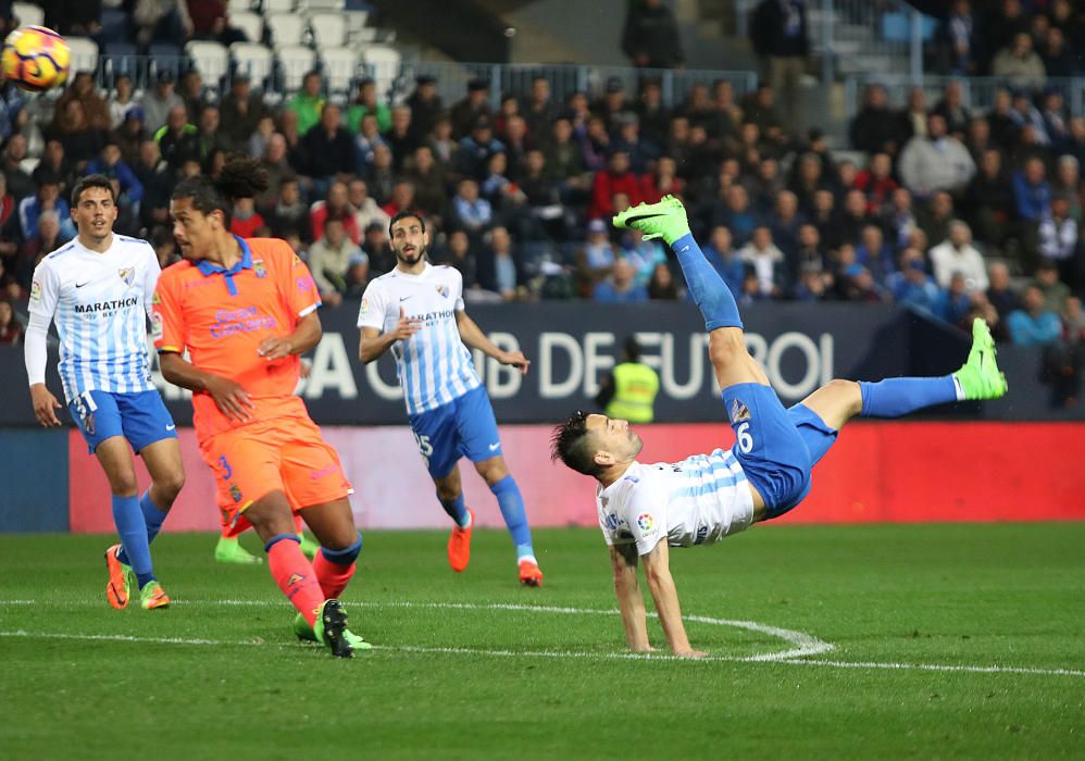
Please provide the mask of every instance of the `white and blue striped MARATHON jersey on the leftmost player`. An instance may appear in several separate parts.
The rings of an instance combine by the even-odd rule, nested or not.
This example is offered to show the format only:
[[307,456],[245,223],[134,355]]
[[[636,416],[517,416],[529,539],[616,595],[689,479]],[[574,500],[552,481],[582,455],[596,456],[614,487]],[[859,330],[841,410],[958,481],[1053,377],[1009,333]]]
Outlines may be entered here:
[[75,239],[35,269],[30,313],[57,323],[58,372],[70,403],[91,390],[154,389],[147,319],[159,273],[150,244],[116,234],[102,253]]

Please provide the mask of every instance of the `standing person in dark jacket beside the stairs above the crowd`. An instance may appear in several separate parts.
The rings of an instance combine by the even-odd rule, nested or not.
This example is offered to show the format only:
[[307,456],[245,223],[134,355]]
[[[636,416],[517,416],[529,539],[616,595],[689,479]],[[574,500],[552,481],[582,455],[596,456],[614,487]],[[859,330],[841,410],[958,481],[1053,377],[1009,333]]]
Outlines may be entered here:
[[750,41],[761,57],[762,74],[778,92],[784,111],[801,129],[799,86],[810,52],[806,0],[762,0],[750,22]]

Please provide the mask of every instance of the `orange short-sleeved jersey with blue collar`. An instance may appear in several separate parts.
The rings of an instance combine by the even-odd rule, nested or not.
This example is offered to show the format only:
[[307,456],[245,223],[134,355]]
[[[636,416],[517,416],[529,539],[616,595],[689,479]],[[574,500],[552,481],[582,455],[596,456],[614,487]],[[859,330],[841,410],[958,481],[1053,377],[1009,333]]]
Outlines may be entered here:
[[[294,333],[320,307],[320,292],[285,240],[235,238],[241,261],[229,270],[185,261],[162,272],[152,303],[154,348],[187,349],[194,365],[239,384],[254,404],[254,420],[308,416],[294,395],[298,355],[269,362],[257,349],[265,338]],[[220,412],[208,394],[192,394],[192,411],[200,439],[245,425]]]

